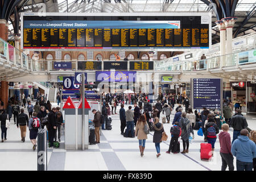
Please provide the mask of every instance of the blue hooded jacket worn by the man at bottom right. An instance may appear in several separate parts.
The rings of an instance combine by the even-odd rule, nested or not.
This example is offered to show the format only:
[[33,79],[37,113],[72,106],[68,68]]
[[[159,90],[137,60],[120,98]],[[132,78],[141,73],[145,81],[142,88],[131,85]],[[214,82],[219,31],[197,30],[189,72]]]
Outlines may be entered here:
[[234,140],[231,152],[241,162],[252,163],[253,158],[256,158],[256,144],[246,136],[238,136]]

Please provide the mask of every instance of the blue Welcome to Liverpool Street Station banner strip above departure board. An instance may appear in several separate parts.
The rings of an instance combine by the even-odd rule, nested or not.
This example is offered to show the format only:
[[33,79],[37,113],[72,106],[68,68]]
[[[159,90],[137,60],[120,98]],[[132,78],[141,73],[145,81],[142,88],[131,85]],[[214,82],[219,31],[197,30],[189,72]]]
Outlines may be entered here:
[[87,21],[24,20],[23,28],[180,28],[180,20],[170,21]]

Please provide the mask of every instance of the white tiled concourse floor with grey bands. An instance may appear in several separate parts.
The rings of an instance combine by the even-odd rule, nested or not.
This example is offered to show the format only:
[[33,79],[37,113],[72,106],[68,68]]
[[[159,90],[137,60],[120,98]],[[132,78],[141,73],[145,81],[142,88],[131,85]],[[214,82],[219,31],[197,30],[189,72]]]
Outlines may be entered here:
[[[125,106],[127,109],[127,106]],[[119,113],[119,108],[117,110]],[[171,114],[171,122],[175,112]],[[163,114],[161,113],[160,118]],[[164,130],[168,134],[167,142],[160,144],[161,155],[156,158],[152,135],[148,135],[146,140],[146,149],[143,158],[139,154],[137,138],[124,138],[120,133],[119,114],[111,116],[112,130],[102,131],[101,143],[89,145],[87,151],[65,151],[63,148],[54,149],[52,152],[64,152],[63,168],[56,170],[220,170],[221,158],[219,154],[220,143],[215,144],[216,152],[209,162],[200,160],[200,143],[203,137],[197,135],[195,130],[195,139],[189,145],[188,154],[166,154],[168,144],[170,143],[171,123],[164,124]],[[256,129],[256,117],[247,119],[250,129]],[[162,119],[161,119],[162,121]],[[36,170],[37,152],[32,151],[32,143],[29,140],[29,131],[27,131],[26,142],[20,141],[20,130],[16,128],[11,120],[11,128],[7,130],[7,142],[0,143],[0,170]],[[151,133],[153,134],[153,133]],[[233,136],[232,131],[230,135]],[[105,140],[104,140],[105,137]],[[63,142],[63,141],[61,141]],[[182,143],[180,145],[182,149]],[[48,162],[51,159],[52,152],[48,152]],[[56,153],[55,153],[56,154]],[[60,154],[60,153],[59,153]],[[53,156],[53,155],[52,155]],[[53,158],[53,157],[52,157]],[[108,159],[107,159],[108,158]],[[51,165],[55,165],[54,162]],[[236,158],[234,159],[236,169]],[[54,166],[51,168],[55,169]]]

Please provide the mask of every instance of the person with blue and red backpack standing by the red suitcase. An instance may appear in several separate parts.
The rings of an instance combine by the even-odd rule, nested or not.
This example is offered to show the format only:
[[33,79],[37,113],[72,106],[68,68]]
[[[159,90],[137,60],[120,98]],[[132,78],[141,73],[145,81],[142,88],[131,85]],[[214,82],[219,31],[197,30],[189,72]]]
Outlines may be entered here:
[[[207,133],[208,143],[212,145],[212,151],[214,151],[214,144],[217,139],[217,134],[219,133],[219,129],[218,129],[218,126],[216,125],[214,118],[210,117],[208,119],[208,122],[205,125],[205,132]],[[212,152],[212,155],[213,155],[213,152]]]

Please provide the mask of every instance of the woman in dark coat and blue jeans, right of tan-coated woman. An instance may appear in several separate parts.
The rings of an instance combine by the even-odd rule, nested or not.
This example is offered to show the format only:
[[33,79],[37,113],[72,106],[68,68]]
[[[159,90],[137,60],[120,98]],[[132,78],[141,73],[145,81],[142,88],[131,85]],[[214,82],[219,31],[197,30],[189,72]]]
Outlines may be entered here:
[[154,124],[153,124],[153,129],[154,129],[154,135],[153,135],[153,143],[155,143],[155,148],[156,152],[156,157],[158,158],[160,154],[160,142],[162,139],[162,133],[164,132],[163,129],[163,123],[159,123],[159,118],[155,118]]

